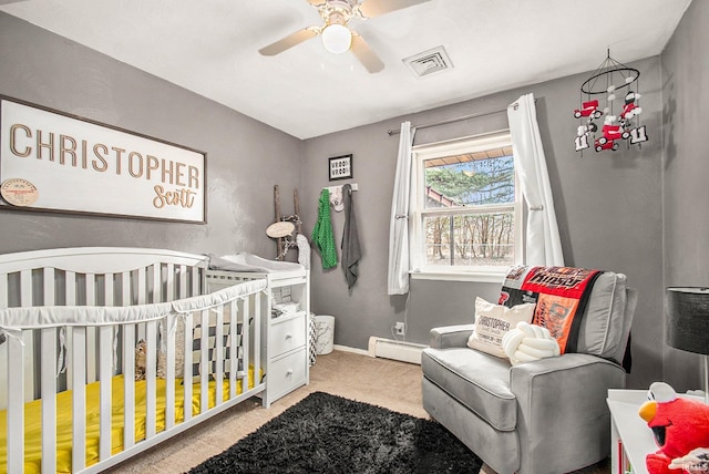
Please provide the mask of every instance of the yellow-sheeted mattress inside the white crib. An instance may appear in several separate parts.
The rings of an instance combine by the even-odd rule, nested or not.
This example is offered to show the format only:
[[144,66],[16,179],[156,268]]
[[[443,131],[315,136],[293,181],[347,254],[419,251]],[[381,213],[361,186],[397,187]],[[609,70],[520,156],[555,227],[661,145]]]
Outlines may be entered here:
[[[249,368],[248,389],[254,388],[254,370]],[[135,442],[145,440],[146,390],[145,381],[135,382]],[[156,380],[155,431],[165,430],[165,385],[164,379]],[[193,384],[192,414],[199,413],[199,383]],[[100,433],[100,383],[86,385],[86,466],[99,462]],[[216,382],[209,382],[209,406],[215,405]],[[237,381],[236,393],[242,393],[242,381]],[[184,385],[182,379],[175,380],[175,423],[184,420],[183,399]],[[229,399],[229,381],[223,383],[223,400]],[[115,375],[112,380],[112,421],[111,421],[111,454],[123,451],[123,375]],[[72,406],[71,391],[56,395],[56,472],[71,473],[72,457]],[[41,400],[28,402],[24,405],[24,472],[41,473],[42,471],[42,420]],[[7,411],[0,411],[0,473],[7,472]]]

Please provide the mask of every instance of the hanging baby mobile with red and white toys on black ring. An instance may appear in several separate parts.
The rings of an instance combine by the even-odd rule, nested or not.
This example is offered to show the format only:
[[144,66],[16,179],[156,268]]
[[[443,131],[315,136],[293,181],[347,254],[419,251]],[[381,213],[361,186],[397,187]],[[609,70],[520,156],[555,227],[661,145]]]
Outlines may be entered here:
[[[621,141],[628,147],[640,147],[647,142],[645,125],[640,125],[639,78],[637,69],[614,60],[608,50],[606,60],[580,86],[580,109],[574,111],[574,117],[580,121],[575,141],[577,152],[583,155],[592,146],[596,152],[615,152]],[[599,95],[605,97],[596,99]]]

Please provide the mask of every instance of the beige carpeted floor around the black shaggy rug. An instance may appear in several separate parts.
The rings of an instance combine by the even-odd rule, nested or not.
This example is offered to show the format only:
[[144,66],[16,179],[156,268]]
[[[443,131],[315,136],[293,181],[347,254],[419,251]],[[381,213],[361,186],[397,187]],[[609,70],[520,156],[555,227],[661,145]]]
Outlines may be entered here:
[[[421,402],[421,367],[351,352],[318,356],[310,384],[276,401],[268,410],[247,400],[158,446],[111,468],[119,474],[182,473],[222,453],[237,441],[297,404],[310,393],[326,392],[412,416],[429,419]],[[481,474],[495,474],[483,466]],[[576,474],[608,474],[609,463]]]

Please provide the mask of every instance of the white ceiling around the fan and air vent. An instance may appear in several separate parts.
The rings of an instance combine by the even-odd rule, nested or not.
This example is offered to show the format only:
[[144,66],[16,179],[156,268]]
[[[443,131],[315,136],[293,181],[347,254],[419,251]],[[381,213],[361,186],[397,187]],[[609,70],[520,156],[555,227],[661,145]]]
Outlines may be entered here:
[[[309,138],[593,71],[608,48],[623,63],[659,54],[689,3],[430,0],[350,22],[386,64],[376,74],[318,38],[258,53],[320,25],[307,0],[0,0],[0,10]],[[440,45],[453,69],[415,78],[402,62]]]

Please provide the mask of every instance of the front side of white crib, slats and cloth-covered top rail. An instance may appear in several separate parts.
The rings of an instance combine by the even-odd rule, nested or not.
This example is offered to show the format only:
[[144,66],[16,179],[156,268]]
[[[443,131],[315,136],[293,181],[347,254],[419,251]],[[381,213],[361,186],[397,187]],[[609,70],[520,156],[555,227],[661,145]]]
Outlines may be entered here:
[[[173,269],[168,269],[168,274]],[[161,275],[164,277],[162,270]],[[181,274],[179,278],[187,277]],[[201,278],[189,277],[203,285]],[[164,280],[160,284],[155,280],[153,289],[160,286],[165,287]],[[0,331],[7,341],[0,349],[4,346],[8,353],[8,362],[1,368],[7,373],[7,385],[3,388],[8,404],[7,472],[23,472],[25,444],[21,433],[27,427],[24,392],[28,387],[33,391],[39,390],[41,394],[41,401],[38,402],[41,403],[42,453],[56,452],[60,399],[71,395],[71,472],[104,470],[261,392],[264,384],[258,368],[261,367],[259,341],[265,288],[265,280],[255,280],[174,301],[160,301],[162,298],[158,298],[156,302],[120,307],[1,309]],[[105,293],[111,293],[110,288]],[[143,291],[138,293],[143,295]],[[93,343],[88,341],[90,333],[95,337]],[[145,341],[144,382],[135,380],[138,340]],[[32,346],[28,341],[38,343]],[[199,350],[194,349],[196,346]],[[177,352],[184,353],[182,367],[177,367]],[[99,354],[95,368],[89,363],[93,354]],[[140,352],[137,358],[142,360]],[[29,360],[30,363],[11,362],[22,360]],[[164,363],[161,364],[161,361]],[[58,375],[64,363],[70,373],[64,375],[68,391],[61,387],[62,375]],[[199,368],[197,372],[194,367]],[[32,368],[32,373],[28,368]],[[255,379],[251,389],[248,384],[249,368],[253,368]],[[39,383],[28,383],[28,379],[34,379],[34,371],[41,374]],[[122,379],[116,379],[116,373]],[[94,379],[96,383],[92,383]],[[182,384],[178,379],[182,379]],[[165,408],[164,423],[161,425],[158,418],[162,419],[163,413],[157,410],[157,399],[162,392],[157,385],[162,380]],[[237,390],[239,381],[240,391]],[[112,441],[114,383],[120,383],[124,403],[123,449],[117,454],[112,454],[115,450]],[[144,383],[146,415],[144,440],[136,441],[135,415],[142,408],[136,405],[135,400],[136,392],[143,390],[138,383]],[[86,450],[95,449],[88,444],[96,443],[88,436],[86,421],[92,416],[88,406],[94,402],[91,394],[94,392],[90,392],[89,388],[95,385],[99,393],[99,462],[86,466]],[[214,400],[209,396],[210,385],[214,387]],[[196,390],[199,391],[198,403],[193,402],[193,392]],[[179,415],[175,409],[176,402],[177,406],[182,406]],[[3,467],[0,465],[0,472]],[[58,472],[61,467],[53,454],[41,456],[42,472]]]

